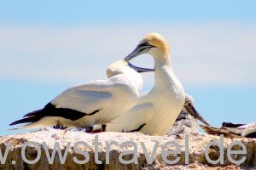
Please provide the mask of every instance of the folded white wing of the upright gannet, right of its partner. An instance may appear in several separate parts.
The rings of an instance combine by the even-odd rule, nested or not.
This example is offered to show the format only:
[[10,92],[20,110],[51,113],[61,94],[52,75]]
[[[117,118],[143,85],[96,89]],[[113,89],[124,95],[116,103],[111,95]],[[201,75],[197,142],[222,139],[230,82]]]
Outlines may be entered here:
[[119,116],[113,122],[109,122],[106,127],[107,132],[137,132],[154,115],[154,108],[151,104],[136,105],[125,115]]

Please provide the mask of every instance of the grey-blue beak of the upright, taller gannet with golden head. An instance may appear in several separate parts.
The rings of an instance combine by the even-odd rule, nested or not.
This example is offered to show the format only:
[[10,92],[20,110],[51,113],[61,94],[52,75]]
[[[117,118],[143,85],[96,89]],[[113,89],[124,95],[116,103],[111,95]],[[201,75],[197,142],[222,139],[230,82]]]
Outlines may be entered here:
[[137,48],[135,48],[131,52],[131,54],[129,54],[125,57],[125,61],[130,61],[131,59],[136,58],[140,54],[146,54],[150,48],[154,48],[154,47],[155,46],[150,45],[148,42],[147,43],[144,42],[142,44],[139,44],[139,45],[137,45]]

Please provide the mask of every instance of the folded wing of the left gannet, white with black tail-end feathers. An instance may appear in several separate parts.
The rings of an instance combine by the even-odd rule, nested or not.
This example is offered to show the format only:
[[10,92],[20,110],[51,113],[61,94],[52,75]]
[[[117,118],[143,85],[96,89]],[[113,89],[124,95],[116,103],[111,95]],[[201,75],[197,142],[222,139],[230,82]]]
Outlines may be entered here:
[[61,117],[75,121],[83,116],[94,115],[110,105],[112,95],[108,93],[108,88],[111,86],[113,84],[109,81],[94,81],[68,88],[43,109],[32,111],[10,125],[38,122],[44,117]]

